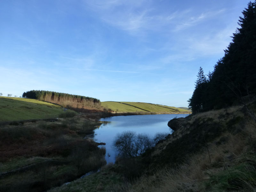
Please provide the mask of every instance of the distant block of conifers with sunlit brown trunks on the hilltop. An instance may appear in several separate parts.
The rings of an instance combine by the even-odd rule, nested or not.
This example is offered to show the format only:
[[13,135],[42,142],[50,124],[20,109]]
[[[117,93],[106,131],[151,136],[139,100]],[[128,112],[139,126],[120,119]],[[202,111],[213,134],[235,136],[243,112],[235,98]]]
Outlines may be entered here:
[[32,90],[22,94],[22,97],[45,100],[52,103],[57,103],[67,108],[100,108],[100,100],[92,97],[81,95],[71,95],[67,93],[59,93],[52,91]]

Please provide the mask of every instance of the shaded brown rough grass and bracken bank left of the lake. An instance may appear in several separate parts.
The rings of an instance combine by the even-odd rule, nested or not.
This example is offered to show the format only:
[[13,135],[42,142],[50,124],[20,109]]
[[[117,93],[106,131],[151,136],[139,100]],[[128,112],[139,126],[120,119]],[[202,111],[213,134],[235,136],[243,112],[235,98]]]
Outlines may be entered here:
[[105,148],[84,139],[97,125],[74,116],[0,126],[0,191],[45,191],[103,166]]

